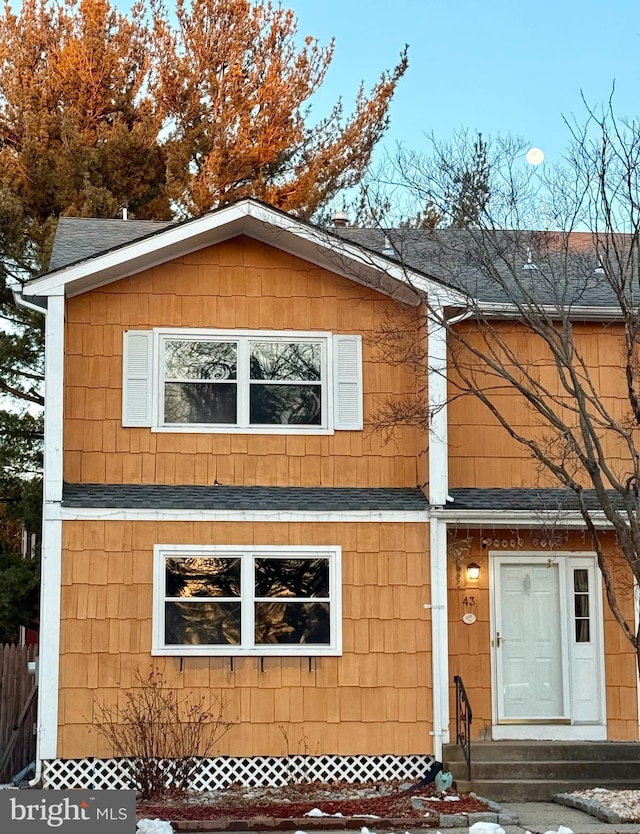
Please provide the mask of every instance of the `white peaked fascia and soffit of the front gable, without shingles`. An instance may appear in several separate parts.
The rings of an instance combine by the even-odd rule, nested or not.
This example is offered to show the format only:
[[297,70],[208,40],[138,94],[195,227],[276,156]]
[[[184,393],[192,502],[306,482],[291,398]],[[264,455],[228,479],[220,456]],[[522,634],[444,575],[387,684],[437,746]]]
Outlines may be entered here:
[[419,304],[421,293],[429,294],[441,304],[464,303],[460,293],[422,273],[251,200],[225,206],[196,220],[163,229],[127,246],[44,275],[29,283],[29,295],[47,296],[62,291],[67,296],[79,295],[240,234],[357,283],[373,286],[403,303]]

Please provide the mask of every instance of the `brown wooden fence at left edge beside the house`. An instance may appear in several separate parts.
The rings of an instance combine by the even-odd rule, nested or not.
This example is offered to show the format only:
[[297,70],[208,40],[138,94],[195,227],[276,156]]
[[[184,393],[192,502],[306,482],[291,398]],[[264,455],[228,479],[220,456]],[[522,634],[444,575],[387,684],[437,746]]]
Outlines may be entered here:
[[0,645],[0,783],[36,757],[36,676],[27,663],[36,646]]

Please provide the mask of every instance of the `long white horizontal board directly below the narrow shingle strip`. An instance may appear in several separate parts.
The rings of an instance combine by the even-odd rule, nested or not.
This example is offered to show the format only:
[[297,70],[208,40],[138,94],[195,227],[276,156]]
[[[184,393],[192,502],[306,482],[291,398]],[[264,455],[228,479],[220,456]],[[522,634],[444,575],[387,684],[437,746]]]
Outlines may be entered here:
[[164,510],[143,507],[61,507],[63,521],[264,521],[366,522],[368,524],[428,522],[428,510],[304,512],[295,510]]

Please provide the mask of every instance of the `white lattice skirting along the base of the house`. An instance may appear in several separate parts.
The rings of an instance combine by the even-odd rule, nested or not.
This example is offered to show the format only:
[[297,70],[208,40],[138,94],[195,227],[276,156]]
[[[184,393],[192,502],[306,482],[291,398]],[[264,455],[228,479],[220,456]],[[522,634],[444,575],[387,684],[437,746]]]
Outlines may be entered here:
[[[279,787],[302,782],[375,782],[421,779],[433,756],[219,756],[202,759],[192,790],[208,791],[233,784]],[[122,790],[133,787],[127,759],[52,759],[43,763],[45,788]]]

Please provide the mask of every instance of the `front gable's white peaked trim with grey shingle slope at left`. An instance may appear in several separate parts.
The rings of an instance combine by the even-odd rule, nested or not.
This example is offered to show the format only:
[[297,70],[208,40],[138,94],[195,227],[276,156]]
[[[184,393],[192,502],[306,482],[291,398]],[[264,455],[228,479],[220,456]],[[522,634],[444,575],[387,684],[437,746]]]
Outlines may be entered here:
[[[417,306],[425,292],[442,304],[463,301],[460,293],[423,270],[407,269],[394,258],[253,199],[160,228],[145,221],[65,218],[61,240],[54,245],[52,268],[29,281],[25,295],[79,295],[238,235],[248,235],[405,304]],[[105,244],[106,248],[95,251]]]

